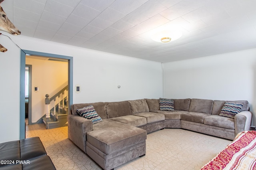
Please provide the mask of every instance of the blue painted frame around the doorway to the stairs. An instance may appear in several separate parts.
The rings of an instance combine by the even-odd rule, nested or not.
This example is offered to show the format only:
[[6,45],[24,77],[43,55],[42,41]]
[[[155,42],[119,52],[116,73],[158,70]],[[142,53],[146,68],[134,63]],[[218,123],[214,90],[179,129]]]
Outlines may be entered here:
[[24,139],[25,132],[25,67],[26,67],[26,55],[51,57],[68,60],[68,109],[73,104],[73,57],[66,55],[57,55],[50,53],[42,53],[37,51],[29,51],[22,49],[20,51],[20,139]]

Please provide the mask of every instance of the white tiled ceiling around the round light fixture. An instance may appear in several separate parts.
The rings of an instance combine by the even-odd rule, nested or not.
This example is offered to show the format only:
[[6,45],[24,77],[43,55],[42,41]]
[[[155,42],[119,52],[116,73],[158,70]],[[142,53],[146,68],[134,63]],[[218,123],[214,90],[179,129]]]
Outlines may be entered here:
[[[158,62],[256,48],[256,0],[5,0],[22,36]],[[169,43],[151,40],[178,27]]]

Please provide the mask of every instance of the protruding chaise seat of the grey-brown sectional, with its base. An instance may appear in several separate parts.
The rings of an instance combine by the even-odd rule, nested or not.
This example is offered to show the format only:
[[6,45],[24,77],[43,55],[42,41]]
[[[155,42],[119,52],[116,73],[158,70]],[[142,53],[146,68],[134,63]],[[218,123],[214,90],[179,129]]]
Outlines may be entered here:
[[146,130],[111,119],[87,132],[86,153],[104,170],[146,154]]

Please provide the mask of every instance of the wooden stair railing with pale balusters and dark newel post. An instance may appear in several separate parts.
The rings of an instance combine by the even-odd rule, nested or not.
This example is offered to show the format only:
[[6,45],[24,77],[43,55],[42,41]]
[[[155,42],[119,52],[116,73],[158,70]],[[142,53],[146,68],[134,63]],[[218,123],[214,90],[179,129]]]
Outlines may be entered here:
[[[46,111],[46,119],[50,119],[50,103],[54,101],[54,121],[56,121],[56,98],[58,97],[58,112],[60,111],[60,100],[62,96],[62,109],[67,111],[64,107],[64,92],[66,91],[66,105],[68,106],[68,85],[61,89],[58,93],[56,93],[53,97],[49,98],[50,95],[46,94],[45,97],[45,111]],[[62,95],[61,95],[62,94]]]

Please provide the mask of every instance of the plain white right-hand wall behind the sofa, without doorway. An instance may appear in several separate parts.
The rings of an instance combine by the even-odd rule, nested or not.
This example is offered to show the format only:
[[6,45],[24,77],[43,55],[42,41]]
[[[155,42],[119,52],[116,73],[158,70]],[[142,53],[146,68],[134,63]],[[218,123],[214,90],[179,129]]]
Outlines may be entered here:
[[256,49],[164,63],[164,97],[248,100],[256,125]]

